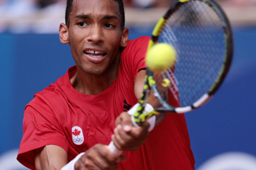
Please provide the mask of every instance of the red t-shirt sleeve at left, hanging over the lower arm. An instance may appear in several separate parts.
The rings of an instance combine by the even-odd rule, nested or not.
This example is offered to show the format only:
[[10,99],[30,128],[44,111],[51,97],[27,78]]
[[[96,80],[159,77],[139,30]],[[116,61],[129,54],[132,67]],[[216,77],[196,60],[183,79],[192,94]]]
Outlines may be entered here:
[[50,144],[68,150],[65,135],[59,127],[50,102],[43,95],[39,95],[25,107],[23,137],[17,160],[24,166],[35,169],[33,150]]

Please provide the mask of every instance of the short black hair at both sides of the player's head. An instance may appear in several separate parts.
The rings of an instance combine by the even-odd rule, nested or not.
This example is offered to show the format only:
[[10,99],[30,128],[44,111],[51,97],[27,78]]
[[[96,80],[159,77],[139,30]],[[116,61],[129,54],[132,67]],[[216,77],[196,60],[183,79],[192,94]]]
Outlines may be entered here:
[[[124,16],[124,3],[123,0],[114,0],[118,3],[119,5],[119,11],[121,14],[121,28],[124,29],[124,24],[125,24],[125,16]],[[69,14],[72,11],[73,7],[73,0],[67,0],[67,7],[66,7],[66,14],[65,14],[65,22],[67,27],[69,27]]]

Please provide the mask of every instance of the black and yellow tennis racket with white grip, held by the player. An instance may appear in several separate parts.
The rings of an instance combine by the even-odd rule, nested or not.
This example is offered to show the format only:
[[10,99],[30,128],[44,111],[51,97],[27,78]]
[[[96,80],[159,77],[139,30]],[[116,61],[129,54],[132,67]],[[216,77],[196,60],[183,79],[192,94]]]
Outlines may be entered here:
[[[220,87],[231,65],[231,26],[214,0],[176,0],[156,24],[148,50],[158,42],[175,48],[176,63],[157,77],[147,68],[139,107],[132,116],[137,125],[161,112],[179,114],[199,108]],[[162,80],[169,83],[163,86]],[[151,89],[160,107],[143,114]],[[169,99],[178,101],[178,105],[172,105],[166,93],[162,93],[166,90]],[[121,153],[113,142],[109,147],[115,154]]]

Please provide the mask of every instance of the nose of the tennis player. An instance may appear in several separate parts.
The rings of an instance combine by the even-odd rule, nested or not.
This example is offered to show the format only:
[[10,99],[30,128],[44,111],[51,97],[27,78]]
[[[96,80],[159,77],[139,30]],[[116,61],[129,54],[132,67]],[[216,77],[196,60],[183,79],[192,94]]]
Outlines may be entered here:
[[88,42],[93,42],[95,44],[103,42],[103,33],[100,26],[95,25],[90,28],[90,33],[87,38]]

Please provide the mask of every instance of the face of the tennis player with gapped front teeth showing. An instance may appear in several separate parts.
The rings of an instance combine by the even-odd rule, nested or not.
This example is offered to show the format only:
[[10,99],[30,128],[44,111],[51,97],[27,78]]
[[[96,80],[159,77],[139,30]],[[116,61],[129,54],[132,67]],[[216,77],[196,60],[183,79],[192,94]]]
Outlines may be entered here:
[[74,0],[69,15],[69,44],[77,67],[101,75],[125,47],[119,6],[114,0]]

